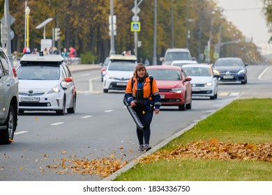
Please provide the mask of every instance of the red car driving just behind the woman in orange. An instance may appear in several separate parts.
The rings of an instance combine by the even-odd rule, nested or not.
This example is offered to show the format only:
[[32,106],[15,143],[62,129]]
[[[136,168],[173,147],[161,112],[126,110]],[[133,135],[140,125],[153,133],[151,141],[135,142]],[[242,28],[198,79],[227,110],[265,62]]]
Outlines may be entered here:
[[149,75],[156,79],[162,106],[178,106],[185,111],[192,108],[191,78],[178,66],[151,65],[146,67]]

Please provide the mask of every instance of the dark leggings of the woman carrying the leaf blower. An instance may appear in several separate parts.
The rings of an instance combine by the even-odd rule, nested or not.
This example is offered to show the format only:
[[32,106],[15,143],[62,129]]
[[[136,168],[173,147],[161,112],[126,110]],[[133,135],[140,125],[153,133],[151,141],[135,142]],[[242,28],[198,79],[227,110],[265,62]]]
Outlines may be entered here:
[[142,144],[149,144],[149,139],[150,139],[150,124],[151,120],[153,118],[153,109],[146,111],[145,114],[138,114],[137,116],[139,117],[139,120],[141,120],[142,125],[144,125],[145,130],[140,130],[137,128],[137,137],[139,140],[139,145]]

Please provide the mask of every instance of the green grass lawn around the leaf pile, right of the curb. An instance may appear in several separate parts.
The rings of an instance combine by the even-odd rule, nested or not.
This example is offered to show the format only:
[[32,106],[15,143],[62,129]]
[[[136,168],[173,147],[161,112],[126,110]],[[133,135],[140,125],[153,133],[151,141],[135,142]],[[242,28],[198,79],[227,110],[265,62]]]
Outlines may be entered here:
[[[161,149],[170,151],[192,141],[211,139],[224,143],[271,143],[272,99],[235,100]],[[163,159],[137,164],[115,180],[271,181],[272,162]]]

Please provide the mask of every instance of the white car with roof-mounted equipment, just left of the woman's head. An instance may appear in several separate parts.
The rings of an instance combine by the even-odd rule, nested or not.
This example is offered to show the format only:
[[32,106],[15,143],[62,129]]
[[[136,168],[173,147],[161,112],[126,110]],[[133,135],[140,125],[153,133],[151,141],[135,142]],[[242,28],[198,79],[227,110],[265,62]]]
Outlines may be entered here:
[[109,65],[107,65],[103,78],[104,93],[108,93],[109,90],[126,90],[128,80],[133,77],[137,65],[136,60],[136,56],[110,56]]

